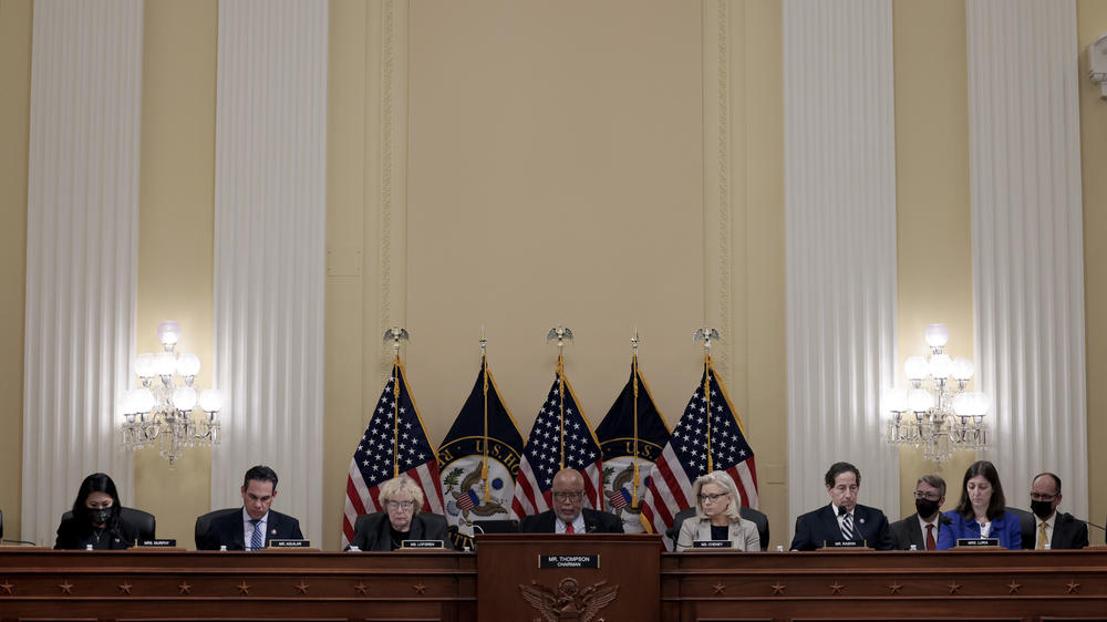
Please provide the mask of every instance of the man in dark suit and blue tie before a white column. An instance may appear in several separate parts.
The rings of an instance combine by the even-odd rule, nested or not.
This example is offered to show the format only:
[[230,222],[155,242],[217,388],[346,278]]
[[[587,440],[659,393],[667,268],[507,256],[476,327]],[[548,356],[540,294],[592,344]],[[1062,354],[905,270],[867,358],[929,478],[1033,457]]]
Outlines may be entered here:
[[258,465],[246,471],[242,481],[242,511],[211,520],[203,548],[254,551],[266,548],[270,539],[300,540],[300,521],[269,509],[277,498],[277,473]]

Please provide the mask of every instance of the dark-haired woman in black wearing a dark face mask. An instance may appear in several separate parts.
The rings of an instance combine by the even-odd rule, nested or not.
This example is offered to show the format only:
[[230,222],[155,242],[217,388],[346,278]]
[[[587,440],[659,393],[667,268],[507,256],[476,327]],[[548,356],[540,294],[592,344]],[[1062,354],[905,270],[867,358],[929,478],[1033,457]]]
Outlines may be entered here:
[[84,478],[73,501],[73,516],[58,526],[55,549],[126,549],[138,532],[120,518],[122,509],[115,483],[103,473]]

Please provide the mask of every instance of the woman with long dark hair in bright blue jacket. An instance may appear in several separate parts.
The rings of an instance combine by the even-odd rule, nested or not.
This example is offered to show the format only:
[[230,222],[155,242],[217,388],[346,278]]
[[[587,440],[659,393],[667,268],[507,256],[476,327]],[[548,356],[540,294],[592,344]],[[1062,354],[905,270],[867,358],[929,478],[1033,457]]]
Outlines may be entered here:
[[1023,548],[1018,517],[1006,511],[1000,474],[987,460],[977,460],[969,467],[961,486],[961,502],[945,516],[950,519],[950,529],[939,535],[940,551],[958,546],[961,538],[997,538],[1005,549]]

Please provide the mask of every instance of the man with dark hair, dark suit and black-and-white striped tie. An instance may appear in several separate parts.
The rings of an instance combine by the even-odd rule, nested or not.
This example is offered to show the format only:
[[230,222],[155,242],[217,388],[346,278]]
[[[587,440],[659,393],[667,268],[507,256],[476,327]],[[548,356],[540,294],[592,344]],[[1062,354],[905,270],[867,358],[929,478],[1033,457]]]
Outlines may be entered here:
[[792,550],[811,551],[828,543],[853,541],[880,551],[896,548],[884,512],[857,502],[861,473],[849,463],[835,463],[824,480],[830,505],[796,519]]

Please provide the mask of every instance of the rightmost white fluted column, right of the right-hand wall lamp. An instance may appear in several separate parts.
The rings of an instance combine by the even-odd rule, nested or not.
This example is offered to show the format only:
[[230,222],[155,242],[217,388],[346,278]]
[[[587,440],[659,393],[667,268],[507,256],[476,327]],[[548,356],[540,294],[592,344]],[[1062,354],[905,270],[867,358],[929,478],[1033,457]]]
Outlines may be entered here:
[[976,386],[1007,502],[1064,481],[1087,518],[1084,234],[1076,3],[970,0],[969,126]]

